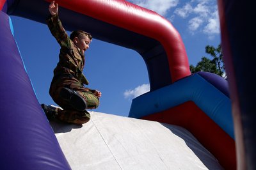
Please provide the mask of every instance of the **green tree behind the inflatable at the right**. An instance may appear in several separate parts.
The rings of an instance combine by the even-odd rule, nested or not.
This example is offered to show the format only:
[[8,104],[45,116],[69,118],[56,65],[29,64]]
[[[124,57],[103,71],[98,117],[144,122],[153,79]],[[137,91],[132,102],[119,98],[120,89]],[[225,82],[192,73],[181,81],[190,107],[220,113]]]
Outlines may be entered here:
[[211,72],[220,75],[225,78],[225,65],[223,63],[223,54],[221,50],[221,45],[217,48],[207,45],[205,47],[205,52],[210,54],[212,59],[202,57],[201,61],[197,63],[196,66],[190,65],[189,68],[192,73],[195,72]]

